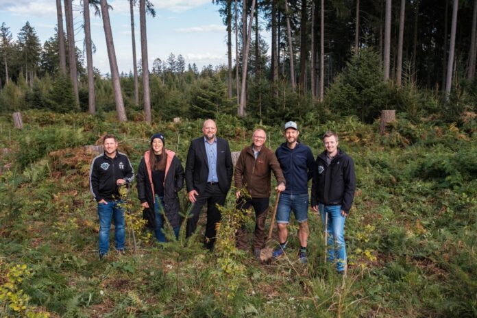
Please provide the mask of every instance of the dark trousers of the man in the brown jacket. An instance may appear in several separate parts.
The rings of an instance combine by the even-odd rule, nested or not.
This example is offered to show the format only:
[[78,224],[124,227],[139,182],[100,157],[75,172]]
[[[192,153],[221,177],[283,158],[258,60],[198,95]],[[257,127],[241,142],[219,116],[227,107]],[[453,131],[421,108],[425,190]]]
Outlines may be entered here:
[[[268,197],[252,197],[252,199],[238,199],[237,208],[239,210],[248,210],[251,206],[255,210],[255,232],[254,232],[254,249],[262,249],[267,238],[265,234],[265,221],[269,210]],[[245,211],[244,211],[245,212]],[[247,232],[245,224],[242,224],[235,234],[236,247],[238,249],[247,249]]]

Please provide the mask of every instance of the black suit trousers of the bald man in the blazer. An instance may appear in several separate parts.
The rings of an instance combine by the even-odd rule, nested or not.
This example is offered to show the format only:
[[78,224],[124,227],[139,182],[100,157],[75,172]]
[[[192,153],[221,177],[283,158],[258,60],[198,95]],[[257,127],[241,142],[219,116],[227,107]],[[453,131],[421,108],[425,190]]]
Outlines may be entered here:
[[218,223],[222,215],[216,204],[223,206],[225,203],[225,197],[227,193],[223,193],[219,184],[210,185],[207,184],[204,193],[195,196],[195,204],[192,207],[192,217],[187,220],[186,236],[191,236],[197,228],[197,222],[199,221],[200,210],[204,204],[207,203],[207,223],[206,223],[206,237],[205,246],[208,249],[212,249],[215,243],[215,236],[217,231],[215,230],[215,224]]

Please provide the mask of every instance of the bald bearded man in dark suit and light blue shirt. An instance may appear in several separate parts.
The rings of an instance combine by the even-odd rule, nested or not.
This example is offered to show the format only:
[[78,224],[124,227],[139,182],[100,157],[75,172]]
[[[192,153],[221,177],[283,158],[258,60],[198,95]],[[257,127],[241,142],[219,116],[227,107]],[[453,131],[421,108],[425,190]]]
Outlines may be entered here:
[[192,217],[187,221],[187,236],[197,228],[202,206],[207,203],[205,245],[212,249],[215,243],[215,224],[221,213],[216,204],[223,206],[232,182],[233,164],[228,141],[215,136],[215,121],[208,119],[202,126],[204,136],[192,140],[186,161],[186,186],[192,202]]

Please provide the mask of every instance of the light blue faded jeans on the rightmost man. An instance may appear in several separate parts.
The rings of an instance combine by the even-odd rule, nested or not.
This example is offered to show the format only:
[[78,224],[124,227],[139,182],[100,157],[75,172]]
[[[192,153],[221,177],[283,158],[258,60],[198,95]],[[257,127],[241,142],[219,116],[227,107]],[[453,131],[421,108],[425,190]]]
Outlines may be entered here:
[[346,244],[345,244],[345,220],[341,215],[341,206],[319,205],[319,214],[326,223],[328,215],[328,261],[337,262],[338,271],[344,271],[346,267]]

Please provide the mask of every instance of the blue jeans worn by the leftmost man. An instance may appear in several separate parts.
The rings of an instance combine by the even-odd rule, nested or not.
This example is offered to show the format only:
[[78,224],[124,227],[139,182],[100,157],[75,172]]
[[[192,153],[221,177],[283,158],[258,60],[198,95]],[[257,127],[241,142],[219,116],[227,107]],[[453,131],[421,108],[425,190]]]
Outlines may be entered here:
[[124,249],[124,210],[119,206],[119,204],[123,202],[113,200],[106,201],[108,204],[98,204],[99,254],[108,253],[112,220],[114,220],[114,246],[116,249]]

